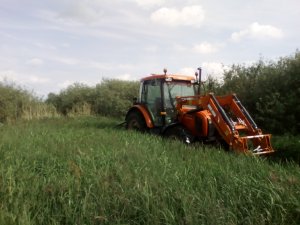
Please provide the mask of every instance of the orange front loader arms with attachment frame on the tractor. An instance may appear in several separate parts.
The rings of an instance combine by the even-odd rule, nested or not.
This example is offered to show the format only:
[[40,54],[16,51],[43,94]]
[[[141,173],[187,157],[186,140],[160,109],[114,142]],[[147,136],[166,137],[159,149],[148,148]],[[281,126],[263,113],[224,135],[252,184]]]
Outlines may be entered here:
[[230,149],[256,155],[274,151],[270,143],[271,135],[262,134],[236,95],[179,97],[177,102],[179,111],[184,105],[207,110],[211,114],[212,123]]

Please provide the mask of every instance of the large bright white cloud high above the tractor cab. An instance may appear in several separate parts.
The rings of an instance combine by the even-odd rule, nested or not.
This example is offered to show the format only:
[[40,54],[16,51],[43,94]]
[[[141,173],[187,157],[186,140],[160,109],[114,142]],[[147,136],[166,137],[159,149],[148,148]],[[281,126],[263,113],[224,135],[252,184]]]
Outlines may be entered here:
[[167,26],[195,26],[200,27],[205,17],[201,5],[186,6],[182,9],[163,7],[151,14],[155,23]]

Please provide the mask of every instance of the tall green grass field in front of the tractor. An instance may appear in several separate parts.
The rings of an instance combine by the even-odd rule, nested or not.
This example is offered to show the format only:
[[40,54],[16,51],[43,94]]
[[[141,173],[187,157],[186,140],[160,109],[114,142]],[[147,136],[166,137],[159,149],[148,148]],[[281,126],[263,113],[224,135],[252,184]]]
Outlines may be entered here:
[[300,224],[296,163],[115,124],[89,117],[2,125],[0,224]]

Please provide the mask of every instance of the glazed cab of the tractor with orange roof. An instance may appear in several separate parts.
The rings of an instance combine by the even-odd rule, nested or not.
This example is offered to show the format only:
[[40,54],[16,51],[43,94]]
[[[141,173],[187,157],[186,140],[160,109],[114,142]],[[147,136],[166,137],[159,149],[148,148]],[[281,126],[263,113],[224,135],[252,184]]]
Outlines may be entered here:
[[138,102],[145,105],[154,126],[176,120],[176,97],[196,94],[195,77],[153,74],[142,79]]

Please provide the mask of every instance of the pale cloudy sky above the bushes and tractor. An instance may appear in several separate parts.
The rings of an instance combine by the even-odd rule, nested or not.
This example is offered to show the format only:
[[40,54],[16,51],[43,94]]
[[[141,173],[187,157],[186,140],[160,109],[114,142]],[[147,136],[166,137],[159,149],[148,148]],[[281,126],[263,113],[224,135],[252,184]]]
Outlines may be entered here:
[[40,97],[153,73],[220,78],[300,47],[299,0],[0,0],[0,81]]

